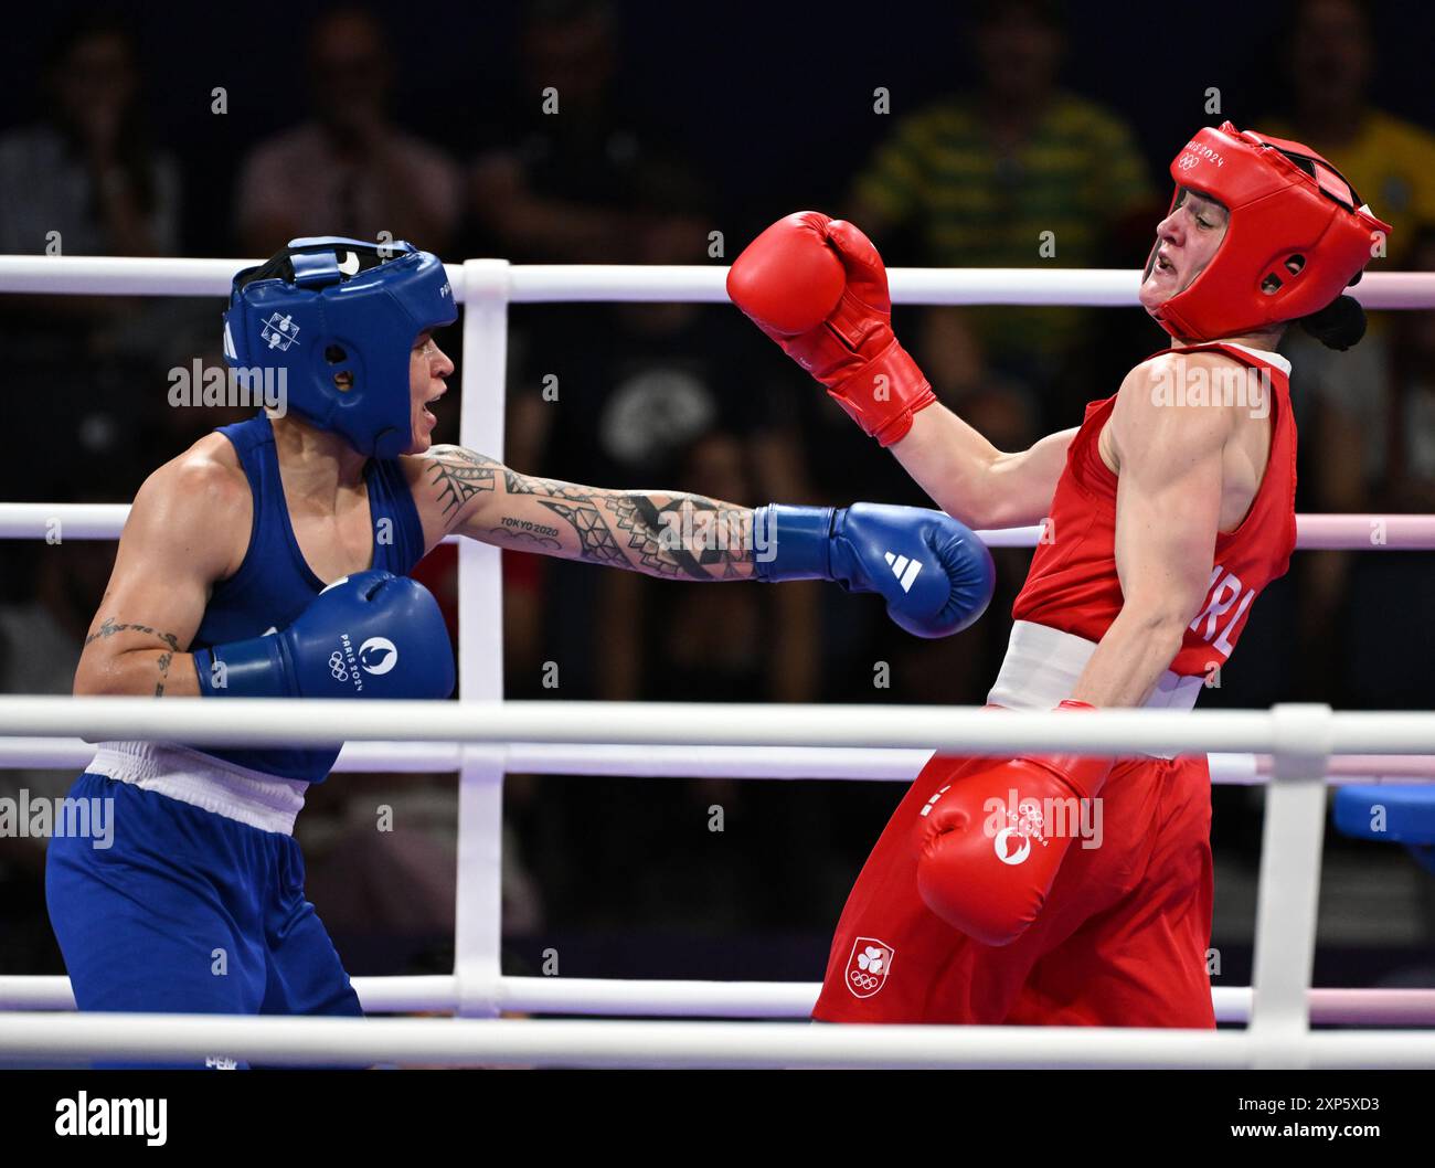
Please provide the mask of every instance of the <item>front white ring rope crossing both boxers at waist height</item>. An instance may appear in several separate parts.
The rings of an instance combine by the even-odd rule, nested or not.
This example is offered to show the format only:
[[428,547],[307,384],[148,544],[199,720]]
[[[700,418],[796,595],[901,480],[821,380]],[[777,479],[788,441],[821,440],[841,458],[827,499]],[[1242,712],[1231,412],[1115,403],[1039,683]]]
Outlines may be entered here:
[[[1263,710],[992,713],[974,706],[808,706],[695,702],[353,702],[151,697],[0,697],[0,736],[148,739],[235,746],[331,742],[627,743],[666,746],[883,746],[961,755],[1251,752],[1325,756],[1435,753],[1435,715]],[[1319,763],[1319,765],[1317,765]]]

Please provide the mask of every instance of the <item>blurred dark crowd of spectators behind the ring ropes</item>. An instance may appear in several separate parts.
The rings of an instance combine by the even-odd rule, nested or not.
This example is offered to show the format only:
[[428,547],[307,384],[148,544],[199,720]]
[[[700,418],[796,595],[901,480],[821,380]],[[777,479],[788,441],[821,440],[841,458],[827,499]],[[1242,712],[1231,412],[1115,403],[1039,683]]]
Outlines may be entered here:
[[[796,209],[733,205],[716,171],[733,165],[738,143],[716,155],[624,93],[617,4],[548,0],[524,13],[509,46],[514,92],[474,112],[466,151],[428,141],[395,112],[396,88],[420,69],[418,53],[395,50],[397,30],[375,11],[336,7],[303,29],[293,123],[235,152],[232,174],[187,184],[192,168],[179,161],[202,146],[156,131],[156,103],[174,100],[159,63],[141,53],[129,20],[86,10],[52,39],[33,116],[0,132],[0,253],[260,257],[296,235],[389,232],[449,261],[722,265]],[[845,178],[806,201],[852,218],[890,264],[1139,267],[1170,199],[1165,166],[1197,122],[1170,126],[1164,154],[1145,151],[1131,109],[1063,82],[1068,20],[1066,6],[1040,0],[953,17],[944,34],[964,67],[951,92],[894,112],[875,149],[854,151]],[[1435,271],[1435,115],[1372,99],[1382,42],[1370,10],[1292,4],[1276,43],[1283,100],[1207,121],[1230,116],[1327,155],[1395,228],[1372,271]],[[241,100],[241,88],[227,98]],[[808,131],[794,128],[789,149],[809,148]],[[11,392],[26,400],[7,410],[0,498],[128,502],[156,465],[237,420],[171,408],[165,393],[166,370],[221,363],[218,307],[0,296]],[[728,306],[521,306],[511,321],[507,449],[485,453],[519,471],[745,505],[927,504]],[[941,400],[1003,449],[1076,425],[1085,402],[1115,392],[1164,342],[1137,310],[900,309],[895,327]],[[455,359],[458,333],[441,337]],[[1299,509],[1435,511],[1435,311],[1375,313],[1347,353],[1294,329],[1284,347],[1302,433]],[[441,408],[438,439],[456,441],[459,396]],[[7,544],[4,692],[69,692],[112,555],[108,542]],[[990,616],[926,643],[891,626],[875,598],[832,587],[684,587],[505,554],[507,694],[982,703],[1027,560],[999,551]],[[418,574],[452,617],[452,548]],[[1424,709],[1432,659],[1435,555],[1302,554],[1257,604],[1203,705]],[[70,778],[7,772],[0,786],[62,793]],[[878,783],[512,776],[505,928],[528,938],[639,926],[821,936],[898,795]],[[1217,842],[1241,862],[1250,808],[1233,796],[1223,821],[1223,798]],[[453,801],[452,776],[340,775],[311,792],[300,818],[310,895],[352,969],[443,967]],[[392,834],[375,831],[380,804],[395,808]],[[39,913],[39,848],[24,842],[0,852],[17,890],[0,897],[10,937],[0,969],[33,973],[57,956]],[[1220,874],[1217,884],[1220,894]],[[376,936],[387,941],[375,947]],[[538,966],[537,953],[515,948],[515,967]],[[620,964],[613,953],[588,961],[594,971]]]

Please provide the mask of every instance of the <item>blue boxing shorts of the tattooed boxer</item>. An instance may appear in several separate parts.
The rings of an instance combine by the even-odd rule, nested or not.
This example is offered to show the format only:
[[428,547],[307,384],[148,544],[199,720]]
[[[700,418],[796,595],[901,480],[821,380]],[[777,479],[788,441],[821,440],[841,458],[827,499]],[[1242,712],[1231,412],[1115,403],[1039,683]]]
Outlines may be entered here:
[[[44,874],[50,926],[80,1010],[362,1016],[304,898],[304,859],[287,831],[210,809],[228,811],[228,792],[202,763],[144,786],[93,768],[70,798],[113,801],[109,847],[56,837]],[[178,779],[185,782],[168,789],[184,798],[154,789]],[[207,1065],[235,1062],[214,1052]]]

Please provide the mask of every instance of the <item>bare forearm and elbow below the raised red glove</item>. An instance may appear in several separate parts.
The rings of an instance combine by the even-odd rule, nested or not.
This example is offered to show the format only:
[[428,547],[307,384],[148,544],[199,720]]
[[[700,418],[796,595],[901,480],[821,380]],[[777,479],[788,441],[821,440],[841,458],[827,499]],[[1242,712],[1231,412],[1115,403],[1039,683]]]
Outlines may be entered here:
[[1027,451],[1003,453],[937,402],[913,415],[891,452],[953,519],[971,528],[1023,527],[1049,514],[1075,435],[1059,430]]

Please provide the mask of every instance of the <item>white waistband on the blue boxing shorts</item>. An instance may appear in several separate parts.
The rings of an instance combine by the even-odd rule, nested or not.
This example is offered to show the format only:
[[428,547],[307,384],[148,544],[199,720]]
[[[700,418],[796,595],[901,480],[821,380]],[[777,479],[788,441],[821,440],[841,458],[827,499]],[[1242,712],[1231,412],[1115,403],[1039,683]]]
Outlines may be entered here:
[[85,769],[281,835],[294,834],[309,786],[169,742],[102,742]]

